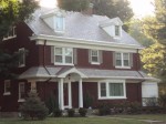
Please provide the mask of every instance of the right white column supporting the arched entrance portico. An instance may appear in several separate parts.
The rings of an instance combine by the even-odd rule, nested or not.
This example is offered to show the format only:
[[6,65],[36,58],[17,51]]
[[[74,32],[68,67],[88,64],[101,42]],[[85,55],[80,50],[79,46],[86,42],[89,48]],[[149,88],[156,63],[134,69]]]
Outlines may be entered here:
[[79,81],[79,107],[83,107],[82,79]]

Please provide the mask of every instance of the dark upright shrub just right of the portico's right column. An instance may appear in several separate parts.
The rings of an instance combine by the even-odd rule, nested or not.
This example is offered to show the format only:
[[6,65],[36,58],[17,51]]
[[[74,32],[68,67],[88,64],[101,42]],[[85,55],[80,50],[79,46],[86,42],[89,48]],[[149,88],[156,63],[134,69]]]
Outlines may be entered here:
[[84,104],[84,107],[85,107],[85,108],[89,108],[90,106],[93,105],[94,100],[93,100],[93,97],[90,95],[90,93],[86,93],[86,94],[84,95],[84,99],[83,99],[83,100],[84,100],[84,101],[83,101],[83,104]]

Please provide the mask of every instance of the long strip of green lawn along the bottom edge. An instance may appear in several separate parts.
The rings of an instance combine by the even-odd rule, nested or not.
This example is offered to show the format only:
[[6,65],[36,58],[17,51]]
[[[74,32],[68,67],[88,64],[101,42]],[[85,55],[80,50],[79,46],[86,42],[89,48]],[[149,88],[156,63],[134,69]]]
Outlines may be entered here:
[[19,118],[0,118],[0,124],[148,124],[136,120],[111,117],[60,117],[45,121],[22,121]]

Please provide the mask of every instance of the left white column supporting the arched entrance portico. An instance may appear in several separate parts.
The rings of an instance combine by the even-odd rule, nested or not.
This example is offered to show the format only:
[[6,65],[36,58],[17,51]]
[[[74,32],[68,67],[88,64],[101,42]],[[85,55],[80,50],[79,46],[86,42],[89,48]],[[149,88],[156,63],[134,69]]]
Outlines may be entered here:
[[63,79],[60,79],[60,108],[64,110]]

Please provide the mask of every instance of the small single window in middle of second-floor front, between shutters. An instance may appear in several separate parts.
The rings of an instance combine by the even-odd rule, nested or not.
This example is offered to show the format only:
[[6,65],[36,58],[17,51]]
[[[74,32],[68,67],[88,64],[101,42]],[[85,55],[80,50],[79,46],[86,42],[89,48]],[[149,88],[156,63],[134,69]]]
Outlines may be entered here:
[[91,50],[91,63],[92,64],[100,64],[100,54],[97,50]]

